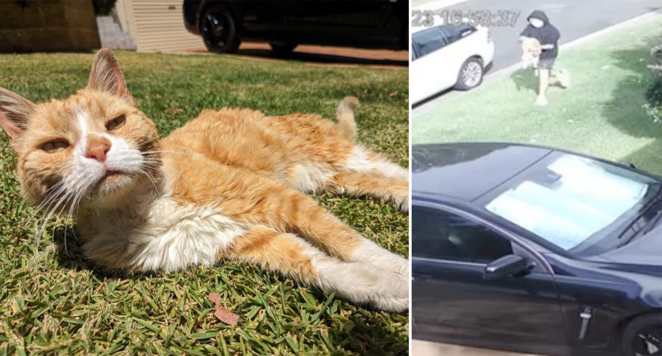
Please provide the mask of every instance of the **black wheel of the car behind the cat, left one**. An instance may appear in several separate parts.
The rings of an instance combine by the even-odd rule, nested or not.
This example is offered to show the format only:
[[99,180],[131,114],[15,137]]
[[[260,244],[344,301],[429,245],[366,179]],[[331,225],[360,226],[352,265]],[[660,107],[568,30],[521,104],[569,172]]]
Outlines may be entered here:
[[211,52],[231,53],[239,48],[237,23],[228,8],[212,5],[200,18],[200,33]]

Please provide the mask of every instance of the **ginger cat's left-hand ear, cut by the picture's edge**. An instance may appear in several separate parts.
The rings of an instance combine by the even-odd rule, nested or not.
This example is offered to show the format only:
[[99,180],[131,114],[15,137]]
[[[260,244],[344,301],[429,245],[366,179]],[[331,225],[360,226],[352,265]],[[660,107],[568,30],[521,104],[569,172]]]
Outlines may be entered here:
[[23,96],[0,87],[0,125],[9,136],[9,145],[17,150],[16,139],[28,127],[34,103]]

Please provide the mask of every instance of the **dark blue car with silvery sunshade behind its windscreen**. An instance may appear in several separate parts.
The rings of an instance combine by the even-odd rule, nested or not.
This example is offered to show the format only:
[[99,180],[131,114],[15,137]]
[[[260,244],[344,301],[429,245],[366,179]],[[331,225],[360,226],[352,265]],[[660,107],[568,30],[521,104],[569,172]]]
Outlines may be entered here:
[[661,187],[557,149],[414,145],[414,338],[662,355]]

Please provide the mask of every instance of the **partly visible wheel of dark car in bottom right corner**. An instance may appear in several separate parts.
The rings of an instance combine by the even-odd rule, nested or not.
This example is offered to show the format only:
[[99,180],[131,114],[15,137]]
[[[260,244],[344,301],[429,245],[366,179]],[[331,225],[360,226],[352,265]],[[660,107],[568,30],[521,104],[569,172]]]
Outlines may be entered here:
[[662,355],[662,315],[635,317],[623,331],[623,356]]

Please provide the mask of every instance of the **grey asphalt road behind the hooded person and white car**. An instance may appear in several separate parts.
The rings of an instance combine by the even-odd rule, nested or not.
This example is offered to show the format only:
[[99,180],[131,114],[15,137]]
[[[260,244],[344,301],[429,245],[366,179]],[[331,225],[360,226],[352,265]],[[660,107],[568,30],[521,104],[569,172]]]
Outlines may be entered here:
[[[492,65],[492,72],[495,72],[519,62],[519,33],[526,27],[526,18],[533,10],[543,10],[561,32],[560,43],[566,43],[660,8],[660,0],[471,0],[452,5],[448,10],[463,13],[488,10],[493,14],[499,10],[519,12],[514,25],[490,26],[496,49]],[[441,18],[437,17],[437,21]]]

